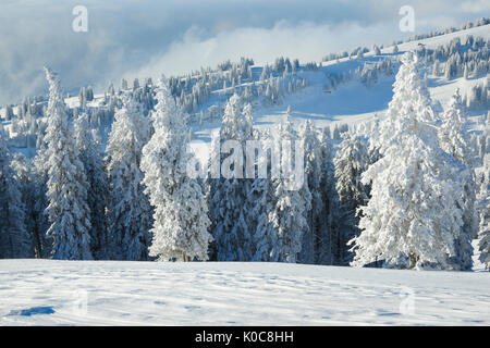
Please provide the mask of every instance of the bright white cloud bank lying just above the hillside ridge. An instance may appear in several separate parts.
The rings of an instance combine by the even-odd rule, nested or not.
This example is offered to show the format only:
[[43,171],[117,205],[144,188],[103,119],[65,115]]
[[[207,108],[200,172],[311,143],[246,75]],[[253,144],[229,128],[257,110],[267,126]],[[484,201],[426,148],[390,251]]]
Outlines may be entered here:
[[155,54],[126,77],[184,74],[200,66],[216,66],[226,59],[236,61],[241,57],[253,58],[256,63],[272,63],[280,55],[297,58],[302,62],[319,61],[329,52],[388,42],[393,38],[389,28],[387,25],[362,27],[357,24],[335,27],[314,23],[292,25],[280,21],[270,29],[237,28],[203,38],[203,30],[193,27],[182,40],[173,42],[166,52]]

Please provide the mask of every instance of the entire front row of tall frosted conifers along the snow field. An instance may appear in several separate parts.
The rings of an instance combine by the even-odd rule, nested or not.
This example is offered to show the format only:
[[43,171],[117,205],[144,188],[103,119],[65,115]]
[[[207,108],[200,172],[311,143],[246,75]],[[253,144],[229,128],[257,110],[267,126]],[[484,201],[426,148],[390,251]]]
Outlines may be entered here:
[[[291,110],[259,130],[246,100],[228,100],[217,141],[302,142],[305,179],[295,190],[270,172],[191,177],[186,114],[163,77],[148,115],[124,99],[102,149],[87,114],[70,120],[58,76],[46,76],[35,158],[11,153],[0,132],[0,258],[467,271],[479,239],[490,266],[490,156],[476,171],[460,91],[437,112],[416,54],[402,59],[385,116],[339,144],[328,127],[294,123]],[[485,132],[489,139],[490,120]]]

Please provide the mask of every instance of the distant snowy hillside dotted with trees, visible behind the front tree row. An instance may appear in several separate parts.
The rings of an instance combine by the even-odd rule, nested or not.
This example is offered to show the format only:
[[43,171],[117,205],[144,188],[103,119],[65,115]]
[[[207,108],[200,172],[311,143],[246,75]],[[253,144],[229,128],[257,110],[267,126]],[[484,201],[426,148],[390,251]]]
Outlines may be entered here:
[[[277,62],[271,62],[267,66],[249,65],[247,60],[244,61],[245,63],[242,62],[242,65],[237,63],[236,66],[231,62],[225,62],[218,70],[208,67],[203,69],[201,72],[174,77],[172,91],[180,105],[189,113],[189,127],[193,130],[193,139],[197,141],[208,142],[210,140],[210,135],[221,125],[221,114],[225,101],[233,92],[246,94],[247,89],[252,94],[249,101],[254,107],[254,125],[258,128],[278,123],[287,107],[291,107],[294,124],[301,124],[304,120],[313,120],[316,126],[330,126],[333,130],[335,125],[346,124],[352,126],[371,120],[375,114],[383,115],[393,96],[392,84],[399,65],[397,62],[404,52],[417,51],[421,47],[426,50],[438,50],[438,48],[450,45],[454,39],[460,39],[461,44],[464,45],[468,36],[483,39],[483,46],[475,49],[476,51],[488,51],[488,44],[487,46],[485,44],[490,38],[490,24],[403,42],[397,45],[399,51],[396,53],[393,52],[392,46],[380,49],[379,54],[376,54],[371,49],[365,49],[366,53],[357,55],[354,54],[356,49],[347,58],[327,62],[303,63],[297,65],[298,67],[294,72],[289,71],[290,75],[283,74],[282,70],[277,72],[274,70]],[[466,47],[461,52],[464,53],[467,50]],[[445,62],[444,59],[440,60]],[[390,62],[392,66],[388,70],[379,70],[371,85],[367,87],[366,83],[362,82],[363,76],[359,75],[362,75],[363,69],[372,69],[379,62]],[[470,98],[474,86],[482,84],[488,86],[487,72],[476,74],[470,78],[464,78],[461,73],[448,79],[444,76],[445,67],[442,63],[439,75],[433,74],[433,69],[429,64],[431,65],[431,63],[427,65],[429,91],[433,101],[439,103],[441,108],[449,102],[456,88],[461,88],[463,97]],[[313,69],[313,66],[316,67]],[[264,74],[266,67],[268,74]],[[236,69],[236,71],[233,69]],[[154,79],[158,77],[152,76]],[[292,91],[289,90],[289,82],[293,82]],[[277,84],[281,87],[278,91],[271,88],[270,94],[273,100],[270,101],[269,97],[266,96],[266,87],[273,87]],[[113,120],[113,110],[121,105],[120,95],[132,94],[137,96],[136,99],[148,103],[145,107],[145,112],[148,112],[155,104],[155,96],[152,96],[155,95],[155,85],[151,78],[140,76],[140,79],[135,80],[133,85],[123,80],[118,88],[117,83],[112,82],[109,84],[107,91],[99,91],[95,95],[90,87],[83,87],[81,95],[82,92],[94,95],[93,99],[90,97],[86,100],[85,107],[82,105],[79,96],[66,98],[65,102],[72,112],[88,112],[91,126],[98,129],[102,141],[106,141]],[[39,119],[38,114],[42,113],[42,107],[47,107],[47,98],[46,96],[37,97],[37,100],[42,101],[38,101],[37,107],[29,107],[29,109],[33,109],[30,114],[38,122],[42,122],[45,121],[44,117]],[[32,102],[33,99],[30,98]],[[28,100],[24,102],[24,109],[28,109]],[[12,114],[19,116],[19,105],[11,105],[11,110]],[[0,116],[4,119],[5,113],[5,109],[1,108]],[[487,108],[475,110],[471,112],[471,121],[478,122],[486,114]],[[10,137],[14,138],[12,146],[27,157],[33,157],[35,149],[32,149],[32,147],[36,141],[32,140],[29,145],[30,140],[25,139],[25,135],[20,134],[35,133],[32,129],[29,130],[29,127],[32,127],[30,121],[26,125],[15,125],[15,120],[14,122],[3,120],[3,125]],[[470,126],[471,129],[480,128],[478,124],[471,124]],[[19,129],[23,127],[24,129]],[[42,128],[40,125],[37,127]]]

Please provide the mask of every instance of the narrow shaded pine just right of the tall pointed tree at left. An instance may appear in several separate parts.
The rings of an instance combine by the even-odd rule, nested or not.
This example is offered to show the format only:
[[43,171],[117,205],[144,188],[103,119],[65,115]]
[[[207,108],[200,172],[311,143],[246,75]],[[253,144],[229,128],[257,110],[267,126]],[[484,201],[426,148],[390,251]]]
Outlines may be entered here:
[[90,209],[90,250],[96,259],[107,259],[107,226],[106,207],[108,196],[108,179],[100,142],[95,129],[91,129],[88,115],[82,113],[75,120],[75,141],[79,160],[84,164],[88,182],[87,204]]

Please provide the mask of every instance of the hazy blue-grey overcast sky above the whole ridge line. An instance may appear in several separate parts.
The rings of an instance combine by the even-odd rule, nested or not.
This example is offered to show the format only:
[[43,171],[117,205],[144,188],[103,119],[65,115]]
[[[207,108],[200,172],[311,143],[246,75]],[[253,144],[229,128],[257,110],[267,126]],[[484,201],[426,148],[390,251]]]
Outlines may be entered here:
[[[357,46],[389,44],[402,5],[415,10],[415,34],[490,16],[488,0],[0,0],[0,104],[47,92],[42,66],[66,90],[102,90],[121,77],[158,77],[226,59],[319,61]],[[75,5],[88,32],[75,33]]]

